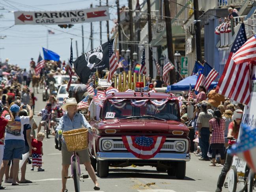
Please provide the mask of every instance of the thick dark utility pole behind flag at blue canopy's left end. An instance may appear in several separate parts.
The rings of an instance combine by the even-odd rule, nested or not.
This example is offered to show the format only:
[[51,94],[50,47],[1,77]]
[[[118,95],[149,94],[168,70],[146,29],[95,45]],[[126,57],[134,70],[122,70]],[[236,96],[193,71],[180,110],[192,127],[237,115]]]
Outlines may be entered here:
[[[172,44],[172,24],[170,18],[170,7],[169,0],[164,0],[164,18],[165,18],[165,28],[166,28],[166,39],[167,39],[167,50],[168,58],[174,64],[174,53]],[[175,70],[170,71],[170,84],[172,85],[176,80]]]

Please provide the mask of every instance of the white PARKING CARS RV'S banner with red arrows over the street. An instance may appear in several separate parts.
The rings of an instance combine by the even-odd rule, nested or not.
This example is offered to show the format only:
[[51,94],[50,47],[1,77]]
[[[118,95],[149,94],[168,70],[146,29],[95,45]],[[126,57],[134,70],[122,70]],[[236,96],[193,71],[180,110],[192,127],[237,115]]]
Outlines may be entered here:
[[75,24],[109,20],[107,6],[69,11],[15,11],[15,25]]

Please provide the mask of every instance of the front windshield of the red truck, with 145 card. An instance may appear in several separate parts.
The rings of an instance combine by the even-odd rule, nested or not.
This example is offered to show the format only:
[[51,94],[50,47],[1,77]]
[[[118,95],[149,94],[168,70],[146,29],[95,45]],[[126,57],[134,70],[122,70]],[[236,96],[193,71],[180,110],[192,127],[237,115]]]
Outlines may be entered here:
[[123,119],[126,117],[132,118],[132,116],[136,119],[152,119],[153,116],[166,120],[178,120],[179,107],[174,101],[167,101],[161,106],[156,106],[150,101],[143,104],[140,103],[140,100],[134,104],[131,99],[125,99],[117,103],[107,101],[104,112],[105,119]]

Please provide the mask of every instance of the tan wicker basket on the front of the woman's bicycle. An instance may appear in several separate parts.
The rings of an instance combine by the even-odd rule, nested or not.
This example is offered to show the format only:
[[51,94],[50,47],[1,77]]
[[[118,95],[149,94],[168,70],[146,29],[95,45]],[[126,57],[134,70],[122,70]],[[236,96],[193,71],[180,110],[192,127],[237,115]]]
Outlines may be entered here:
[[67,151],[81,151],[88,148],[88,129],[74,129],[62,133]]

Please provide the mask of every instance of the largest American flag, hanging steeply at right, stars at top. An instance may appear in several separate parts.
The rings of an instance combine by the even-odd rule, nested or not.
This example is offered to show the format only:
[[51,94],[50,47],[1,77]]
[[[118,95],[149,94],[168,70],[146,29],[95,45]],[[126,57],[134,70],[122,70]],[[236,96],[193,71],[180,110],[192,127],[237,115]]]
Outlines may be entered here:
[[[255,37],[252,37],[252,39],[255,39]],[[248,42],[252,41],[252,39],[249,39]],[[235,59],[238,61],[239,57],[237,56],[242,53],[240,52],[240,47],[242,47],[246,41],[245,24],[242,23],[237,36],[235,37],[224,71],[215,90],[216,93],[243,104],[248,104],[250,101],[251,65],[247,62],[236,64],[232,57],[236,55]],[[253,49],[251,46],[246,47],[249,50],[251,48]]]

